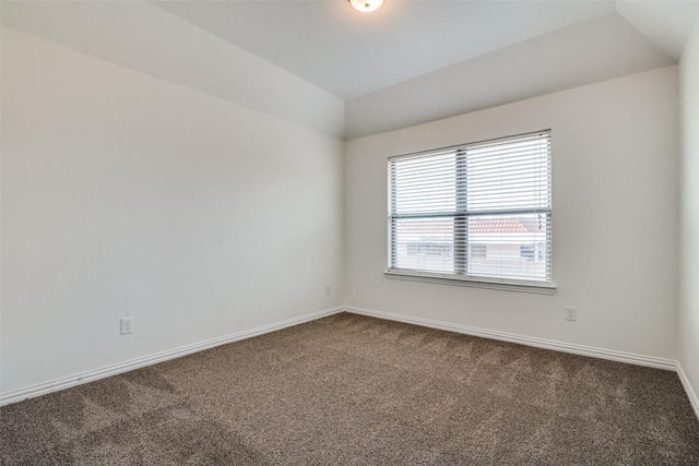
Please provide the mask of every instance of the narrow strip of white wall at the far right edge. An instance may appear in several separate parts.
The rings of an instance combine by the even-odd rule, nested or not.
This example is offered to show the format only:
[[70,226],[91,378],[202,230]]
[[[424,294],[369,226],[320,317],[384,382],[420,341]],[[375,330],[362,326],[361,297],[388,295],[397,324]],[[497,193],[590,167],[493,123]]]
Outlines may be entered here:
[[[680,294],[677,359],[699,403],[699,21],[679,63],[682,96]],[[699,405],[695,405],[699,414]]]

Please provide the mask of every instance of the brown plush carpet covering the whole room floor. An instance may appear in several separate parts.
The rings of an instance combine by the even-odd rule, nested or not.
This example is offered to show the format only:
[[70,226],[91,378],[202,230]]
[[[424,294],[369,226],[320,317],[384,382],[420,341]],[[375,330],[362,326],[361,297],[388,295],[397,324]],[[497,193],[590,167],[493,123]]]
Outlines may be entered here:
[[337,314],[0,409],[3,465],[699,465],[677,374]]

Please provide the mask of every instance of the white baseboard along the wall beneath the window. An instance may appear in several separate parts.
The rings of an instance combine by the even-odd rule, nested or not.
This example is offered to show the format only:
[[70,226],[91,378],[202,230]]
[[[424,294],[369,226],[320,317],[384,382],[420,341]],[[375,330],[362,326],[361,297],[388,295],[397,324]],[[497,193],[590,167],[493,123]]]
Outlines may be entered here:
[[553,349],[574,355],[590,356],[593,358],[608,359],[612,361],[627,362],[637,366],[651,368],[676,370],[677,362],[672,359],[655,358],[652,356],[635,355],[631,353],[615,351],[612,349],[594,348],[591,346],[574,345],[570,343],[556,342],[552,339],[534,338],[531,336],[517,335],[512,333],[497,332],[466,325],[451,324],[447,322],[433,321],[429,319],[412,318],[408,315],[393,314],[390,312],[375,311],[372,309],[355,308],[345,306],[345,311],[354,314],[362,314],[371,318],[386,319],[389,321],[404,322],[408,324],[422,325],[430,328],[446,330],[449,332],[463,333],[466,335],[482,336],[484,338],[499,339],[501,342],[518,343],[520,345],[535,346],[537,348]]

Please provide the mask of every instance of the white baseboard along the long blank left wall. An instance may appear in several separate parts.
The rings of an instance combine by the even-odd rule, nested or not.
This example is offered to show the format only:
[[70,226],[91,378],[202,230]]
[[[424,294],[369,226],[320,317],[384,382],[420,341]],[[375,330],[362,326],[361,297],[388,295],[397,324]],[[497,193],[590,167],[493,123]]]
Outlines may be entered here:
[[34,398],[36,396],[45,395],[47,393],[70,389],[71,386],[81,385],[83,383],[93,382],[99,379],[105,379],[122,372],[128,372],[134,369],[143,368],[145,366],[156,365],[158,362],[164,362],[169,359],[175,359],[182,356],[191,355],[193,353],[199,353],[204,349],[214,348],[216,346],[225,345],[228,343],[239,342],[241,339],[251,338],[253,336],[264,335],[265,333],[276,332],[282,328],[315,321],[317,319],[327,318],[329,315],[337,314],[343,311],[344,311],[344,308],[325,309],[323,311],[301,315],[299,318],[289,319],[283,322],[277,322],[270,325],[263,325],[257,328],[234,333],[232,335],[226,335],[218,338],[208,339],[205,342],[194,343],[192,345],[187,345],[187,346],[182,346],[175,349],[168,349],[166,351],[161,351],[154,355],[131,359],[130,361],[120,362],[118,365],[107,366],[104,368],[90,370],[79,374],[68,375],[68,377],[51,380],[48,382],[38,383],[36,385],[31,385],[24,389],[14,390],[12,392],[2,393],[0,394],[0,406],[21,402],[27,398]]

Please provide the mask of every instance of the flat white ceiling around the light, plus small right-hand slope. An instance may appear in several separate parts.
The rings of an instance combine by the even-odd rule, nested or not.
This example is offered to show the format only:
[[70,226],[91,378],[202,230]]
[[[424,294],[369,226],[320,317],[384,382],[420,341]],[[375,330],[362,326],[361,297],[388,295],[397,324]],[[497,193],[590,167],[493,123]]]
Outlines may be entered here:
[[677,60],[699,2],[158,1],[158,7],[343,99],[618,13]]

